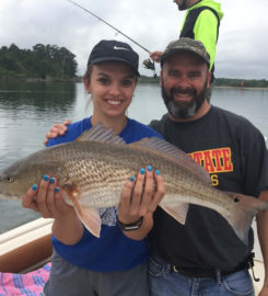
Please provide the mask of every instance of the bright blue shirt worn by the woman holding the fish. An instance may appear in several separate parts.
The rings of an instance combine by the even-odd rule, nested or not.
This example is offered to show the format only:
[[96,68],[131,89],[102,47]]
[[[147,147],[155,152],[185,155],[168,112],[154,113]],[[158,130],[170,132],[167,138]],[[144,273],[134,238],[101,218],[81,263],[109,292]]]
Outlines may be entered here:
[[[68,126],[63,136],[50,139],[47,146],[73,141],[84,130],[92,127],[91,119],[73,123]],[[127,126],[119,135],[129,144],[144,137],[161,137],[152,128],[128,118]],[[102,209],[101,237],[96,238],[84,228],[81,240],[74,246],[61,243],[53,236],[53,246],[58,254],[73,265],[97,272],[129,270],[148,260],[147,239],[136,241],[127,238],[116,224],[117,208]]]

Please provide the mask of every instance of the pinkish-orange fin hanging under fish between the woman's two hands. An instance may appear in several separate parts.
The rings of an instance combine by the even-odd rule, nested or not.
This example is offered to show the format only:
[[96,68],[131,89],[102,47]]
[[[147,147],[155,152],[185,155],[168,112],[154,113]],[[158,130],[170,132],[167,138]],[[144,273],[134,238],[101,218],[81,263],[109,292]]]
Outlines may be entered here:
[[62,194],[68,195],[71,200],[75,213],[80,220],[83,223],[84,227],[95,237],[100,238],[101,232],[101,217],[94,207],[83,207],[80,205],[78,198],[81,195],[81,191],[75,184],[65,184],[62,185]]

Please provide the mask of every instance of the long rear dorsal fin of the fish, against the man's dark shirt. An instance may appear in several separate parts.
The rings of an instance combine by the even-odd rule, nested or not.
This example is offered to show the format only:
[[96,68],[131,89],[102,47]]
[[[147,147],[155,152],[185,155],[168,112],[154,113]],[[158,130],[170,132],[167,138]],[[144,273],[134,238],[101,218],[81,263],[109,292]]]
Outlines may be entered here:
[[184,167],[184,169],[190,171],[198,179],[202,180],[202,182],[211,184],[210,175],[200,164],[198,164],[191,157],[189,157],[183,150],[178,149],[174,145],[163,139],[156,137],[143,138],[139,141],[129,144],[129,146],[154,150],[156,153],[160,153],[161,157],[170,158],[178,166]]

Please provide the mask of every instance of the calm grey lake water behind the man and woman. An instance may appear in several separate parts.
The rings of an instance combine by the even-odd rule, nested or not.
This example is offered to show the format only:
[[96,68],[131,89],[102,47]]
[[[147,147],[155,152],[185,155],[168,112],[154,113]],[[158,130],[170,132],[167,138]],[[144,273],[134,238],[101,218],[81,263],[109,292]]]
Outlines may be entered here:
[[[45,133],[65,118],[92,113],[82,83],[23,83],[0,81],[0,170],[42,149]],[[268,137],[268,90],[213,90],[212,103],[247,117]],[[144,124],[166,112],[158,84],[140,84],[128,116]],[[39,217],[18,201],[0,200],[0,234]]]

